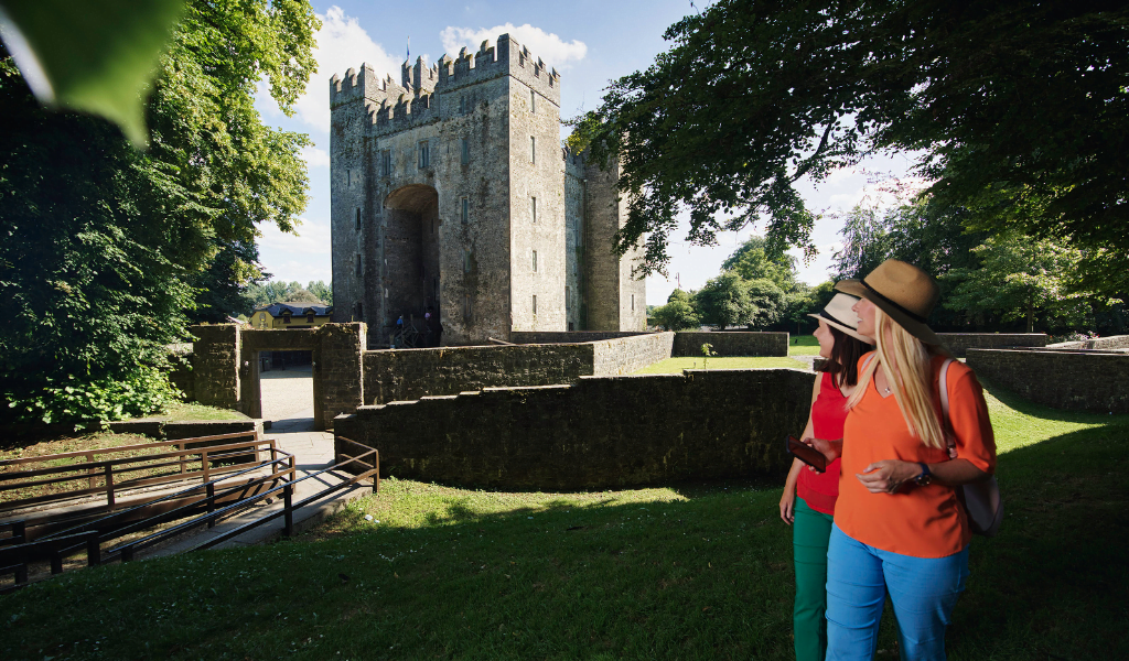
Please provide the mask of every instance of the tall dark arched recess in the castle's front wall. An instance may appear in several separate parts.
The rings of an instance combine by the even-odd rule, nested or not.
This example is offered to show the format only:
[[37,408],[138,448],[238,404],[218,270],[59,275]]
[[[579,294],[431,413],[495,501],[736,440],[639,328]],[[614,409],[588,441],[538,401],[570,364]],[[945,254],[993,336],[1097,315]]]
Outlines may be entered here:
[[384,213],[383,323],[414,317],[422,332],[428,310],[439,319],[439,193],[423,184],[397,188],[384,200]]

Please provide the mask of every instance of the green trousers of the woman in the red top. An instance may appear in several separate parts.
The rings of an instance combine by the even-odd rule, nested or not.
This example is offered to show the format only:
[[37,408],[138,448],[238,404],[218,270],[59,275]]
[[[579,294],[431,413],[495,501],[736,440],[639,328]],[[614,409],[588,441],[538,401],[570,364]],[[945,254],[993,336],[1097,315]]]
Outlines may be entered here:
[[793,609],[793,636],[796,661],[823,661],[828,649],[828,539],[831,515],[796,499],[796,520],[791,525],[791,546],[796,558],[796,606]]

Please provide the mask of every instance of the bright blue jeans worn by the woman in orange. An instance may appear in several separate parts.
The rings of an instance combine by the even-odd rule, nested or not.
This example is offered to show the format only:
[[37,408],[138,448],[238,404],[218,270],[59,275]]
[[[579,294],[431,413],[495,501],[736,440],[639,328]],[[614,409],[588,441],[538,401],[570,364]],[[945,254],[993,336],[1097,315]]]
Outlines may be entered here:
[[969,548],[912,557],[856,541],[839,526],[828,544],[826,661],[870,661],[886,592],[903,661],[944,661],[945,627],[969,576]]

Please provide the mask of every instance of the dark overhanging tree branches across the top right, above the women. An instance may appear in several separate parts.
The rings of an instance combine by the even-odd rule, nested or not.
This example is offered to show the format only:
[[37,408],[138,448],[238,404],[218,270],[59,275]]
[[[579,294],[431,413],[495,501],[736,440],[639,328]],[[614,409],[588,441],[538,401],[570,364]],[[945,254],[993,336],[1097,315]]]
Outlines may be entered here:
[[668,52],[572,123],[575,150],[619,159],[629,214],[664,272],[689,240],[767,220],[768,248],[811,250],[796,184],[877,150],[916,150],[938,205],[1129,249],[1129,8],[925,0],[719,0],[671,26]]

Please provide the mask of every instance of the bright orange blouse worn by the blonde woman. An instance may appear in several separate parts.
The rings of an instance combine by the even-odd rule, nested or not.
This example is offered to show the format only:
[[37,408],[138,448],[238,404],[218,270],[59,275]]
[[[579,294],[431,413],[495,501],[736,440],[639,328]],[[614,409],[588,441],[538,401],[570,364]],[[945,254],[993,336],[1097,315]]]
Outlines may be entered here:
[[[859,361],[859,372],[863,361]],[[934,356],[934,400],[940,415],[939,373],[944,356]],[[977,468],[996,470],[996,438],[983,390],[972,370],[960,361],[948,368],[948,413],[956,455]],[[835,525],[854,539],[913,557],[945,557],[960,553],[972,538],[964,508],[951,486],[908,483],[893,494],[870,493],[858,481],[873,462],[900,459],[925,464],[948,460],[948,452],[926,447],[910,434],[898,400],[883,397],[874,385],[847,414],[843,428],[842,474]]]

